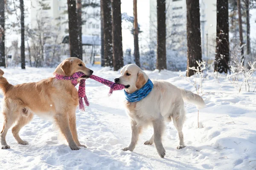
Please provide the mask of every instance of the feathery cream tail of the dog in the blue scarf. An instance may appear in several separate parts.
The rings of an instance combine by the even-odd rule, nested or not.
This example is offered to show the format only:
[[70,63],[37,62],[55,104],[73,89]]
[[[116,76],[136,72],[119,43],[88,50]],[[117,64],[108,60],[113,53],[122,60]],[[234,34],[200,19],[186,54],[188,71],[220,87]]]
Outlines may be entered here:
[[180,90],[183,100],[196,105],[198,109],[205,108],[205,103],[201,96],[194,94],[191,91],[187,91],[185,89]]

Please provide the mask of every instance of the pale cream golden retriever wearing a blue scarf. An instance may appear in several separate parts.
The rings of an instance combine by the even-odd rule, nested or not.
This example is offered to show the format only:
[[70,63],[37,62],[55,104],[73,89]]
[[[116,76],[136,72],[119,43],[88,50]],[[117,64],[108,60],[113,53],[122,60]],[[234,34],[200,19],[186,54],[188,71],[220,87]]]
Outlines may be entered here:
[[[121,70],[121,76],[115,79],[116,83],[125,85],[128,94],[142,88],[148,81],[148,76],[135,64],[125,65]],[[152,125],[154,134],[144,144],[155,144],[157,153],[164,158],[166,150],[162,144],[162,135],[165,121],[171,122],[176,127],[179,135],[177,149],[185,147],[182,127],[185,121],[184,101],[191,102],[200,108],[205,106],[201,96],[191,91],[177,88],[169,82],[153,81],[153,89],[144,99],[138,102],[126,101],[126,110],[131,119],[131,143],[124,151],[133,151],[139,134],[143,127]]]

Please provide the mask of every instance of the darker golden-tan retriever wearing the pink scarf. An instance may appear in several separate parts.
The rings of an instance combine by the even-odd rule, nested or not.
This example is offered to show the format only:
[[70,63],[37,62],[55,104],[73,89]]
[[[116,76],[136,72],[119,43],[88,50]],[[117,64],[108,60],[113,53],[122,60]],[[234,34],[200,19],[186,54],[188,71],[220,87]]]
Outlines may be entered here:
[[[72,76],[78,71],[86,75],[81,77],[83,79],[93,74],[93,71],[86,68],[81,59],[75,57],[61,62],[53,74]],[[3,130],[0,133],[2,149],[10,148],[6,143],[6,133],[14,123],[15,125],[12,127],[14,138],[19,144],[28,144],[20,139],[19,131],[31,121],[34,114],[54,119],[72,150],[86,147],[80,144],[76,132],[75,112],[79,105],[79,96],[70,80],[59,80],[52,77],[40,82],[11,85],[3,77],[3,74],[4,72],[0,70],[0,88],[4,94],[2,102],[4,121]]]

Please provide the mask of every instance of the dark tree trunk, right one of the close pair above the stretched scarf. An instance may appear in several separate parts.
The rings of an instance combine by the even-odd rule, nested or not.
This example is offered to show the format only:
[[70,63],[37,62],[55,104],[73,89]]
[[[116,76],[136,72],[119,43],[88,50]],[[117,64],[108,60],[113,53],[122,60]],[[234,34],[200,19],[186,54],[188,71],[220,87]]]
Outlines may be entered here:
[[114,71],[124,65],[122,51],[122,15],[121,0],[112,0],[112,41]]

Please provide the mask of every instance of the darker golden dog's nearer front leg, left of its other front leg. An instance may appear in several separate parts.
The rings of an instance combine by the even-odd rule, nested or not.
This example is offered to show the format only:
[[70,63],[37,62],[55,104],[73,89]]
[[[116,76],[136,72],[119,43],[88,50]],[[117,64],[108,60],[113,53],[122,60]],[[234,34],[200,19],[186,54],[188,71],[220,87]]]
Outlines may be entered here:
[[64,136],[66,137],[68,145],[70,146],[70,149],[79,150],[80,148],[77,146],[76,142],[74,141],[72,133],[70,131],[68,113],[56,114],[55,121],[57,125],[60,127],[61,133],[63,133]]

